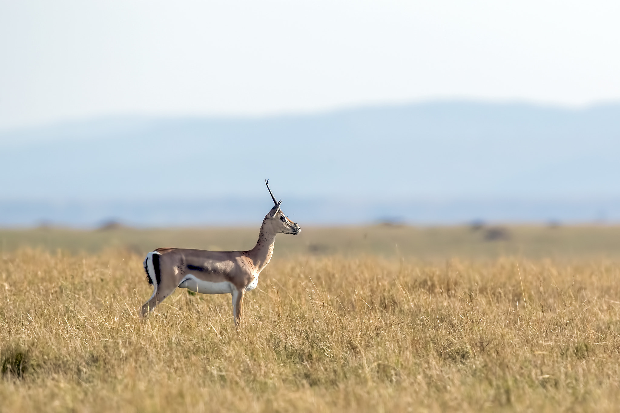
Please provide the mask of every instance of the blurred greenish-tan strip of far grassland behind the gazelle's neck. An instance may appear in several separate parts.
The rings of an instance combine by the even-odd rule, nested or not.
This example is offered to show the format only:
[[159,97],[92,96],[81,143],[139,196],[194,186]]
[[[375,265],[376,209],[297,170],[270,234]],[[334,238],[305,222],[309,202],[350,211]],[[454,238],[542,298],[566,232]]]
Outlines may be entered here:
[[[0,230],[0,252],[20,247],[97,253],[117,248],[145,254],[159,246],[206,250],[247,250],[258,238],[258,228],[177,228],[139,230],[68,230],[36,228]],[[296,237],[278,237],[277,258],[294,256],[360,255],[384,258],[618,258],[618,226],[513,227],[303,227]]]

